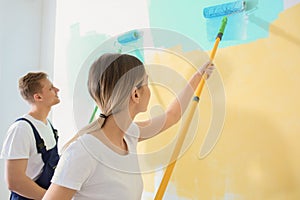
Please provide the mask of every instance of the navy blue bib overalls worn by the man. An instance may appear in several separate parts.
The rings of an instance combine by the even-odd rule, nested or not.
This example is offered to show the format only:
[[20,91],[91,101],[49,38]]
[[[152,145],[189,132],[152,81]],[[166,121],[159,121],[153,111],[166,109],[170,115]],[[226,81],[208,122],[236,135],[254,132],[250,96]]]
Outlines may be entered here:
[[[59,155],[57,152],[57,140],[58,140],[57,130],[54,129],[52,124],[49,122],[54,134],[56,144],[52,149],[49,149],[47,151],[44,140],[41,138],[40,134],[38,133],[34,125],[28,119],[25,118],[19,118],[16,121],[20,121],[20,120],[24,120],[30,124],[34,133],[37,152],[42,154],[42,160],[44,162],[43,172],[35,182],[42,188],[48,189],[51,184],[51,178],[54,174],[54,170],[59,160]],[[26,199],[28,198],[22,197],[15,192],[11,192],[10,200],[26,200]]]

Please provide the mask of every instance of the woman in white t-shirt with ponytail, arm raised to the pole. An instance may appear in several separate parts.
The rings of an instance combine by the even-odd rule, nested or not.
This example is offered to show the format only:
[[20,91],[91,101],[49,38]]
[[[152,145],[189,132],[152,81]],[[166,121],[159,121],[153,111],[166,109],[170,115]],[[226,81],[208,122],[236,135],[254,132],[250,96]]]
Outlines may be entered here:
[[44,200],[141,199],[143,182],[136,147],[181,118],[207,63],[192,76],[165,113],[134,122],[150,99],[143,63],[127,54],[104,54],[89,71],[88,89],[102,111],[100,117],[67,143]]

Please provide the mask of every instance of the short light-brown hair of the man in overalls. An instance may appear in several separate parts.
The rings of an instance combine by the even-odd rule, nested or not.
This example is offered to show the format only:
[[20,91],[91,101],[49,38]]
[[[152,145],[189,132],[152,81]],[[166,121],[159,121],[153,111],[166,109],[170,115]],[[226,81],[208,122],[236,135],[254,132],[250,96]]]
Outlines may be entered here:
[[48,75],[44,72],[29,72],[25,76],[19,79],[19,90],[22,97],[30,102],[34,102],[33,95],[41,92],[42,85],[41,80],[48,78]]

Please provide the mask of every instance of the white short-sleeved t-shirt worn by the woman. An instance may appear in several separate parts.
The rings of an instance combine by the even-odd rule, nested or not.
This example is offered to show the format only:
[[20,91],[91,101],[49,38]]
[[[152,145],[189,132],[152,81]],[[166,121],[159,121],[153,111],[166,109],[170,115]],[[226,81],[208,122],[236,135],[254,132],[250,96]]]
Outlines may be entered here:
[[84,134],[61,156],[52,183],[77,190],[76,200],[140,200],[138,136],[138,127],[132,124],[125,135],[129,153],[120,155],[93,135]]

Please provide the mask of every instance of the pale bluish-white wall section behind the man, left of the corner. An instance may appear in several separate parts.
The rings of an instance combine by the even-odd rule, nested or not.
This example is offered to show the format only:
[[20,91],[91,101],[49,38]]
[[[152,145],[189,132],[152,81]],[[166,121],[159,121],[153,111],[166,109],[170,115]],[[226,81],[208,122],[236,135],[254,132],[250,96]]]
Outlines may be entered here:
[[[53,75],[55,0],[0,0],[0,144],[10,124],[28,111],[17,89],[20,76]],[[0,199],[8,199],[0,160]]]

